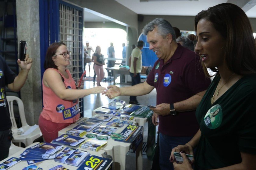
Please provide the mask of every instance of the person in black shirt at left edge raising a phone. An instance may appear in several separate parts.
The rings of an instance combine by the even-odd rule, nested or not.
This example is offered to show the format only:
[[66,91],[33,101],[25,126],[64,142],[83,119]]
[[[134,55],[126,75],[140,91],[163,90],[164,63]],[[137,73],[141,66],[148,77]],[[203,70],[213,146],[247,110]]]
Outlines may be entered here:
[[18,76],[13,73],[4,58],[0,56],[0,161],[8,157],[12,140],[12,123],[6,101],[5,86],[12,91],[20,91],[32,66],[32,59],[26,55],[25,61],[18,59],[17,63],[21,69]]

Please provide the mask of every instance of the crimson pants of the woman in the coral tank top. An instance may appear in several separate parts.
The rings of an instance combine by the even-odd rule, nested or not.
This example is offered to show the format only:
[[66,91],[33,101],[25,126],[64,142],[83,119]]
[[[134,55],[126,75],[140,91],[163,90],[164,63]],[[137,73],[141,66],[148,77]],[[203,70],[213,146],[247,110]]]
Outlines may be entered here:
[[69,126],[71,123],[54,123],[44,119],[40,114],[38,124],[43,134],[44,141],[51,142],[58,137],[58,131]]

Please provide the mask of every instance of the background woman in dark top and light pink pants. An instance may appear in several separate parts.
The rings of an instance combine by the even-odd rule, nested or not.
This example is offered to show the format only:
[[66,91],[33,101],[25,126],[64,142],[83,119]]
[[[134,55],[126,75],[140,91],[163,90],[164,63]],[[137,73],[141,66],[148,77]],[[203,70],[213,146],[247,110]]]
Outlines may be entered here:
[[101,54],[101,47],[97,46],[95,49],[95,53],[93,54],[94,70],[97,75],[97,86],[101,86],[101,80],[104,79],[104,60],[104,56],[103,54]]

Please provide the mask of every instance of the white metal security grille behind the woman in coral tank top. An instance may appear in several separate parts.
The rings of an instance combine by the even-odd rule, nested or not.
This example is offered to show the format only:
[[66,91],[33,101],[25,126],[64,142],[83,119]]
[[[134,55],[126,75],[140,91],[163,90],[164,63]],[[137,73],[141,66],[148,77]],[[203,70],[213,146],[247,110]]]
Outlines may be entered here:
[[[59,4],[59,41],[64,42],[72,52],[67,67],[78,84],[83,73],[83,11],[74,6]],[[82,99],[79,100],[80,113],[83,112]]]

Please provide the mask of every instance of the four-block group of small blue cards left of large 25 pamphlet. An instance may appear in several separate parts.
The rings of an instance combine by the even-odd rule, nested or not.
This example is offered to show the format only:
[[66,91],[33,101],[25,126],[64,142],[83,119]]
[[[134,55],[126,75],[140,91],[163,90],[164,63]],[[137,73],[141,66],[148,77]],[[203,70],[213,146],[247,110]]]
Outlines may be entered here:
[[67,147],[54,158],[54,161],[79,166],[88,155],[87,151]]

